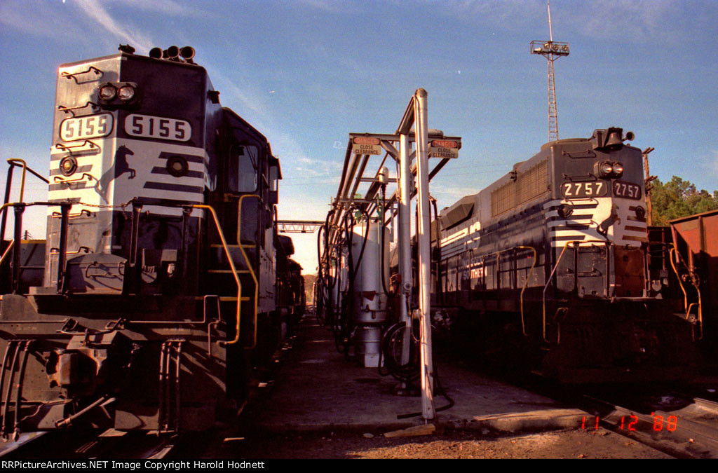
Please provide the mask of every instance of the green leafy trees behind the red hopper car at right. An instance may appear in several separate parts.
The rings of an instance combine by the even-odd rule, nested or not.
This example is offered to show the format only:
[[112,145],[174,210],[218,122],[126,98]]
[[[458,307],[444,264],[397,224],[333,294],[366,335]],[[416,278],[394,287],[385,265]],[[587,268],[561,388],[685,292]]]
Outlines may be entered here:
[[678,176],[665,184],[656,179],[651,185],[653,225],[668,225],[674,218],[718,209],[718,190],[713,195],[704,189],[699,191],[695,184]]

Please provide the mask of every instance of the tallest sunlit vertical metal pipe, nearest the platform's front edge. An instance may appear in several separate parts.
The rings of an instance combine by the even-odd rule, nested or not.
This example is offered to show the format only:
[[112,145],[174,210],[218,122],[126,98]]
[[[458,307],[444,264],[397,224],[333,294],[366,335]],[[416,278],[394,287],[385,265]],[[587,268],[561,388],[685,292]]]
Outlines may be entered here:
[[429,127],[427,126],[426,90],[414,95],[416,117],[416,175],[419,189],[417,240],[419,243],[419,312],[421,313],[421,416],[425,421],[434,418],[434,367],[432,365],[431,313],[431,203],[429,202]]

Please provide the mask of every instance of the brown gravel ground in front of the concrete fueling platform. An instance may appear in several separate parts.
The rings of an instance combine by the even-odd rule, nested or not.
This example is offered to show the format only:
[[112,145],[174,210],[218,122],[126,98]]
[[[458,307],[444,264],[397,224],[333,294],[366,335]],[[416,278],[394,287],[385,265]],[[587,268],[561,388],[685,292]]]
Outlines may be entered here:
[[[216,455],[216,456],[215,456]],[[216,458],[241,459],[666,459],[628,437],[597,431],[551,431],[490,437],[477,432],[387,439],[382,435],[329,433],[226,439]]]

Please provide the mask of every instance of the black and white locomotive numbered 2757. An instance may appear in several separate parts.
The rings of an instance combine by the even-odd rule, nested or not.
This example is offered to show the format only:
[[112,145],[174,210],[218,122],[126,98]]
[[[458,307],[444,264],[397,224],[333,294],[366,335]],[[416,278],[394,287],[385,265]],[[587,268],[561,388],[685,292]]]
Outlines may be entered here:
[[670,235],[646,225],[630,139],[607,128],[547,143],[445,208],[436,322],[489,359],[567,383],[691,378],[700,321],[676,297]]

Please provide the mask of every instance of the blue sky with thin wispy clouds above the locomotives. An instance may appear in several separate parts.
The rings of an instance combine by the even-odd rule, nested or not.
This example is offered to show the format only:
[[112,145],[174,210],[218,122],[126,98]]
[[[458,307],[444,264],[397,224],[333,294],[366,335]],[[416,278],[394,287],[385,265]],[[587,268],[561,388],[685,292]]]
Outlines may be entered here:
[[[559,136],[635,132],[651,174],[718,189],[718,2],[553,0]],[[0,0],[0,186],[5,160],[47,173],[57,66],[191,45],[224,106],[281,160],[280,219],[323,220],[350,132],[392,133],[416,88],[429,127],[462,136],[431,186],[439,208],[477,192],[547,140],[545,0]],[[26,200],[45,200],[29,184]],[[44,233],[42,213],[27,225]],[[314,237],[295,236],[305,271]]]

